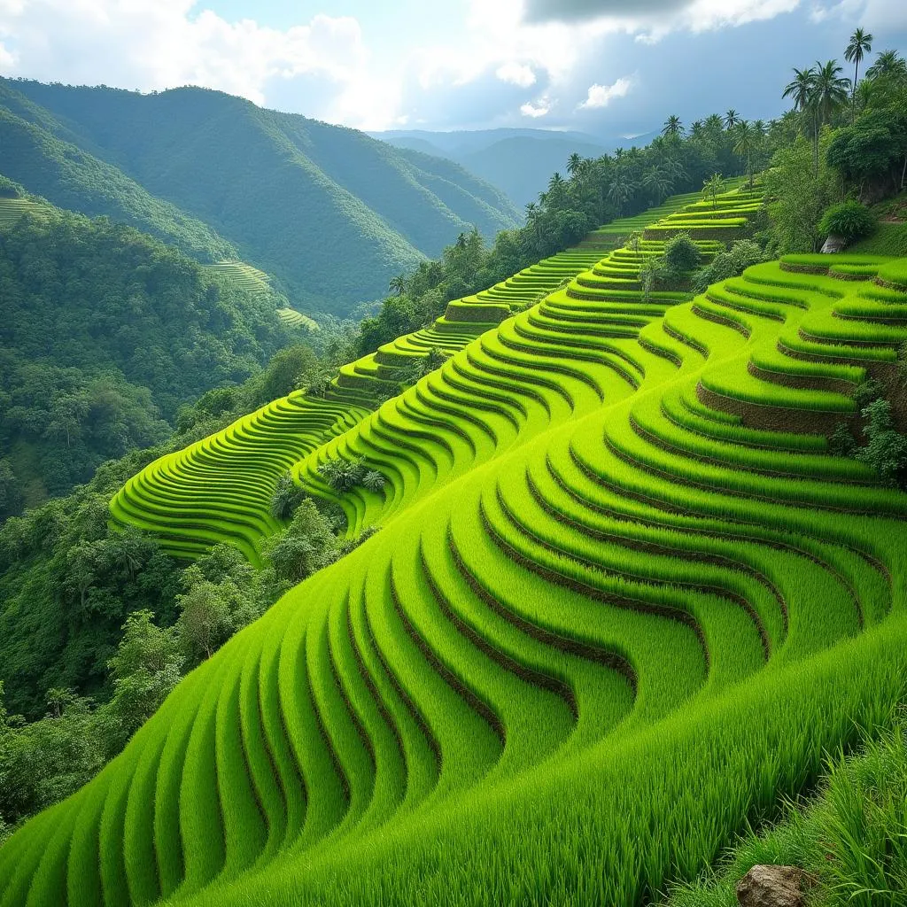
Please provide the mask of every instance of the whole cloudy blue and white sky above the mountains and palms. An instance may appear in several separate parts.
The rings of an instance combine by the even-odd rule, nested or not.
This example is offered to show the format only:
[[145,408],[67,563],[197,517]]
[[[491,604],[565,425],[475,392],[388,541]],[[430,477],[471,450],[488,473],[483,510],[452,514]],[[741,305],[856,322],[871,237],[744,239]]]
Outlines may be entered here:
[[[186,84],[366,130],[658,130],[785,109],[856,25],[907,55],[907,0],[0,0],[0,74]],[[848,73],[851,68],[848,66]]]

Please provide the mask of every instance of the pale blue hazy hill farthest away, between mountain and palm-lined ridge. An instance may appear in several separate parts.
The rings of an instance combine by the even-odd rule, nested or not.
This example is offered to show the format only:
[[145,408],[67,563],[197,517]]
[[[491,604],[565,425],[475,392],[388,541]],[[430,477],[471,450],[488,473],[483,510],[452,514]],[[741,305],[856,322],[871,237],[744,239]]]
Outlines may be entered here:
[[397,148],[444,155],[504,191],[520,207],[537,200],[553,172],[564,174],[574,151],[594,158],[623,143],[600,140],[585,132],[543,129],[394,130],[371,134]]

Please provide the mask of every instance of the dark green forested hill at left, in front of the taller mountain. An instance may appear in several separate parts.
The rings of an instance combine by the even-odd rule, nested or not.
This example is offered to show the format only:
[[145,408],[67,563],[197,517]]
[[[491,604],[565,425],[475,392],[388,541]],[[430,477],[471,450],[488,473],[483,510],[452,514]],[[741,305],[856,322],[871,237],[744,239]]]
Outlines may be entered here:
[[[0,215],[16,194],[0,177]],[[40,201],[0,218],[0,299],[0,519],[161,441],[181,404],[289,337],[268,289]]]

